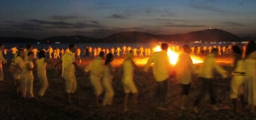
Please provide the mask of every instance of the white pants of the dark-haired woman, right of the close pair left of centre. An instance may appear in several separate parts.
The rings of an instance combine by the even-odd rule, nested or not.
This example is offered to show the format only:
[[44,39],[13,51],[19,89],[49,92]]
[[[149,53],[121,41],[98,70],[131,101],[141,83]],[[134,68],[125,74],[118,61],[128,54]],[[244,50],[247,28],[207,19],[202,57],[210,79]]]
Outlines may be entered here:
[[105,89],[105,96],[104,96],[104,100],[102,102],[103,106],[108,105],[112,105],[112,101],[113,101],[113,86],[112,86],[112,79],[103,79],[102,80],[104,89]]

